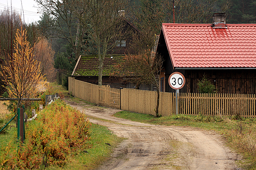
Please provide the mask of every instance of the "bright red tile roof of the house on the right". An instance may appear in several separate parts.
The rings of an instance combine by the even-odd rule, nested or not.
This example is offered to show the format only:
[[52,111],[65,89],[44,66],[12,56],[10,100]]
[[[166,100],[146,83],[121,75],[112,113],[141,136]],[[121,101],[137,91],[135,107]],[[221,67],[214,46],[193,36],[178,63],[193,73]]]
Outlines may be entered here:
[[256,24],[162,24],[174,68],[256,67]]

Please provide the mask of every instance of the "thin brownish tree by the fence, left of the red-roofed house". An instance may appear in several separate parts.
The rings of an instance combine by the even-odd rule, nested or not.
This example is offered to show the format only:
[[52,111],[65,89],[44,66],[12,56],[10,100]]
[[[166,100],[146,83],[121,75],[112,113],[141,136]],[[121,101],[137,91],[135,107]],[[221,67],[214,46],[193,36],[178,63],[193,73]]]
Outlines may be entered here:
[[156,117],[159,117],[159,74],[162,69],[163,59],[154,51],[158,37],[150,28],[145,28],[140,35],[133,35],[132,49],[136,55],[127,55],[123,64],[119,64],[113,76],[122,77],[136,89],[140,85],[154,85],[157,88]]

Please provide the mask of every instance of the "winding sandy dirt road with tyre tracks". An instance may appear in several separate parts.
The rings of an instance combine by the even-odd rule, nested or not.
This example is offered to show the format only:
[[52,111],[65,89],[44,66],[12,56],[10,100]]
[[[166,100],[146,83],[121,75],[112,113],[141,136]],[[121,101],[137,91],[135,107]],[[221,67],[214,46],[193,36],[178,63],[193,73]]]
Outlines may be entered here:
[[191,127],[160,126],[113,117],[119,110],[68,102],[90,118],[127,138],[98,170],[241,170],[238,155],[224,146],[213,131]]

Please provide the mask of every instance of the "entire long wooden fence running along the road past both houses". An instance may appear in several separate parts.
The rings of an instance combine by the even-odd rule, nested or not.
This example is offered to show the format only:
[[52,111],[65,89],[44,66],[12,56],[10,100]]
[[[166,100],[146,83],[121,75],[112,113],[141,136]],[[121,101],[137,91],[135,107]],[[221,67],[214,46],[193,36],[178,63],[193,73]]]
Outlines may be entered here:
[[[100,106],[155,115],[157,92],[130,88],[117,89],[93,85],[69,78],[69,92]],[[159,114],[176,113],[175,93],[160,92]],[[256,117],[255,94],[180,93],[178,113],[204,115],[240,115]]]

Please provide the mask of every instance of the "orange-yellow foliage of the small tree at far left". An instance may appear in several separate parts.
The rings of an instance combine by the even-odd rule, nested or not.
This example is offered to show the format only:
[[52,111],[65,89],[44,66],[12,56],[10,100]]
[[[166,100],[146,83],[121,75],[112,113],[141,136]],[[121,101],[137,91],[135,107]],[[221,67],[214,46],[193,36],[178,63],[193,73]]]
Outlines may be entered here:
[[29,98],[38,92],[38,83],[45,82],[40,72],[40,62],[34,57],[33,49],[34,45],[27,41],[27,31],[18,29],[14,53],[5,57],[0,72],[10,97]]

